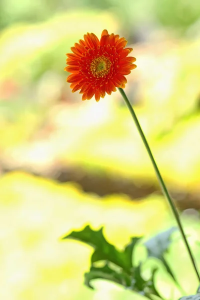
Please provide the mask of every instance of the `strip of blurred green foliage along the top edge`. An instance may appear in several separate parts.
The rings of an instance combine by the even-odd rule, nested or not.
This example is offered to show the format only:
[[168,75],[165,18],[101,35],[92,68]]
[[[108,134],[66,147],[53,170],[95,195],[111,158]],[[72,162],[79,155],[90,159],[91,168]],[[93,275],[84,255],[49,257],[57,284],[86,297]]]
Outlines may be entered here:
[[128,36],[136,34],[135,28],[146,26],[148,22],[151,25],[155,23],[156,26],[173,28],[178,34],[184,34],[189,26],[198,21],[200,13],[198,0],[1,0],[0,27],[13,22],[43,21],[55,12],[85,8],[114,13]]

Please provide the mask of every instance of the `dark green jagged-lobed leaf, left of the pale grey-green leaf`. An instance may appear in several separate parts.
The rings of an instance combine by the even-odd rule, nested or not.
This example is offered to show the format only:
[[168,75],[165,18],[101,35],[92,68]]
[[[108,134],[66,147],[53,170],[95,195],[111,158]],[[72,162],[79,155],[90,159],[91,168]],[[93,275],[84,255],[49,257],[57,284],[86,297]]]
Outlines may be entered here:
[[[132,252],[139,237],[132,237],[123,251],[117,250],[105,239],[102,228],[92,230],[89,225],[81,231],[72,231],[63,238],[77,239],[94,248],[90,270],[84,274],[84,283],[88,287],[93,288],[91,280],[101,278],[116,282],[125,288],[145,295],[151,300],[152,295],[159,297],[154,286],[156,270],[152,270],[150,278],[145,280],[141,274],[141,263],[136,267],[132,265]],[[103,266],[96,266],[95,262],[99,260],[104,261]]]

